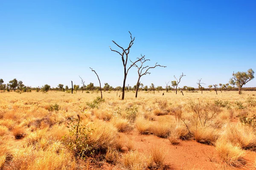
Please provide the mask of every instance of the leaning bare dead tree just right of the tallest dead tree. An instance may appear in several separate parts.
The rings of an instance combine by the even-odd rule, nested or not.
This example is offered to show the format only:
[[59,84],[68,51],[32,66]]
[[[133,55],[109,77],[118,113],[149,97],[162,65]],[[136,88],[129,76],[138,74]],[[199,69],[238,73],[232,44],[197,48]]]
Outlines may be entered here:
[[140,61],[140,66],[138,66],[137,64],[132,62],[131,59],[130,59],[131,63],[133,63],[133,65],[138,68],[138,75],[139,75],[138,81],[137,81],[137,88],[136,88],[135,98],[137,98],[138,90],[139,90],[139,87],[140,87],[140,77],[142,77],[142,76],[144,76],[146,74],[151,74],[150,72],[148,72],[148,70],[151,69],[151,68],[156,68],[157,66],[159,66],[159,67],[166,67],[166,66],[163,66],[163,65],[159,65],[157,63],[155,64],[154,67],[149,67],[148,65],[143,67],[144,62],[150,61],[150,59],[145,59],[145,55],[142,56],[142,54],[140,54],[140,56],[141,56],[141,58],[137,58],[137,59],[140,59],[139,60]]

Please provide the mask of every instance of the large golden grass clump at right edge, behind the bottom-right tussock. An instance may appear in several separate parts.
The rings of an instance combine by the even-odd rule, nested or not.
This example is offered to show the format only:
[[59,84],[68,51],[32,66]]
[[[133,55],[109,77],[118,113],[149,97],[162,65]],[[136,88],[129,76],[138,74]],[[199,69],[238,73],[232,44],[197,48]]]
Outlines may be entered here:
[[227,125],[221,139],[239,145],[242,149],[256,149],[256,135],[251,127],[241,124]]

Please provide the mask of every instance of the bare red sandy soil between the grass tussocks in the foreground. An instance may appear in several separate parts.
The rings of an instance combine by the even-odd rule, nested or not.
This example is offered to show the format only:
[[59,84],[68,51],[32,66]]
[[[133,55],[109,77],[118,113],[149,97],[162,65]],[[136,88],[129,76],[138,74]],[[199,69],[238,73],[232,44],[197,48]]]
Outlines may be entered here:
[[[121,133],[120,136],[133,140],[135,149],[141,153],[147,154],[155,145],[163,147],[166,169],[169,170],[253,170],[251,166],[256,158],[256,152],[246,151],[247,164],[244,167],[223,167],[224,164],[218,159],[214,146],[201,144],[194,140],[181,141],[178,145],[172,145],[168,139],[154,135],[140,135],[136,130],[129,134]],[[119,170],[119,167],[105,163],[101,169]]]

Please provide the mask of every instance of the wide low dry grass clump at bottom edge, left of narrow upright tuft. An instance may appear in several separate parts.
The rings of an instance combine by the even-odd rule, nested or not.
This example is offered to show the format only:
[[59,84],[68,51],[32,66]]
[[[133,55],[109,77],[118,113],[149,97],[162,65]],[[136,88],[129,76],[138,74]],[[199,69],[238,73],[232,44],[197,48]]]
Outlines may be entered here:
[[121,163],[127,170],[145,170],[150,166],[151,160],[138,151],[130,151],[122,156]]

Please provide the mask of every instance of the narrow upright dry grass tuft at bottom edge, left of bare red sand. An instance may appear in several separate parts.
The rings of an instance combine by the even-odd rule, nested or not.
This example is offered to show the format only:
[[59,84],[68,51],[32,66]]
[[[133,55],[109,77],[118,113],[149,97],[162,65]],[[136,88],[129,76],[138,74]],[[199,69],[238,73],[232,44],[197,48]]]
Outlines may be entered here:
[[163,169],[164,161],[165,161],[164,148],[161,148],[159,146],[151,147],[150,155],[151,155],[152,161],[156,164],[157,168]]

